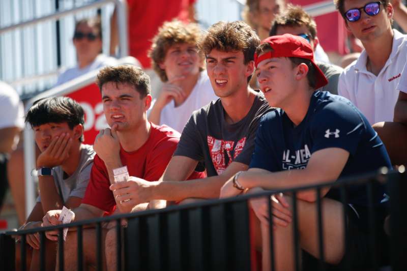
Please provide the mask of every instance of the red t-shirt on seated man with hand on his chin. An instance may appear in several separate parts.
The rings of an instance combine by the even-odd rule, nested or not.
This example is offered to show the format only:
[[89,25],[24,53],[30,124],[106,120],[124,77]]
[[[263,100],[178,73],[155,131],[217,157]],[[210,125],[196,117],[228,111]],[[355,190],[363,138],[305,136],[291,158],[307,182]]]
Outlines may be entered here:
[[[151,124],[150,136],[146,143],[131,153],[121,148],[120,160],[123,165],[127,165],[130,176],[151,181],[158,180],[164,173],[179,140],[179,132],[167,126]],[[189,179],[203,177],[205,173],[193,172]],[[106,212],[105,215],[110,215],[114,212],[116,202],[109,187],[110,180],[105,163],[96,155],[82,203],[98,207]]]

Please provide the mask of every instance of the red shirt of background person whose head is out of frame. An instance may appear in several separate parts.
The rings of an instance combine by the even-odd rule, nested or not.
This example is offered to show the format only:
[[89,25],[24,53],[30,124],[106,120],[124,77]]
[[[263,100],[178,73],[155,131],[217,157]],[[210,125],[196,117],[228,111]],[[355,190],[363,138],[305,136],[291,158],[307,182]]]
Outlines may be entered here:
[[196,0],[127,0],[129,54],[138,59],[143,68],[151,68],[147,56],[151,41],[165,22],[178,18],[188,21],[188,7]]

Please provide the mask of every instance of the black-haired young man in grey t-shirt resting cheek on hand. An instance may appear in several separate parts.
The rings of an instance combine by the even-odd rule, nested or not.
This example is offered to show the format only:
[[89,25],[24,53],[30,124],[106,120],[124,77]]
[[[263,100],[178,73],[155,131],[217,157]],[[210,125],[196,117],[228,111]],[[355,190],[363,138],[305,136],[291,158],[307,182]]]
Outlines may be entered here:
[[[49,210],[80,205],[88,186],[95,152],[83,141],[84,114],[82,107],[68,97],[42,99],[28,110],[25,122],[34,130],[35,141],[41,150],[37,158],[40,196],[20,229],[42,226],[42,217]],[[39,268],[40,236],[26,235],[27,245],[34,250],[31,270]],[[17,246],[19,249],[20,246]],[[56,243],[47,241],[46,266],[54,268]],[[27,250],[28,253],[31,250]],[[20,255],[20,253],[16,253]],[[30,256],[28,256],[30,258]],[[20,260],[17,259],[17,264]]]

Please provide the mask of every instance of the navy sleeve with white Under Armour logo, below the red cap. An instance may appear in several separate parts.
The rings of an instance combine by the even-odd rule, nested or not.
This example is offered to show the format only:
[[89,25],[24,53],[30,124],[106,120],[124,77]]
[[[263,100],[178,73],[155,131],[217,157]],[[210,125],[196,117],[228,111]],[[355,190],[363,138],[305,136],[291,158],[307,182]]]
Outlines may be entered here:
[[320,149],[338,147],[355,155],[365,125],[361,113],[350,102],[323,105],[316,109],[311,123],[311,154]]

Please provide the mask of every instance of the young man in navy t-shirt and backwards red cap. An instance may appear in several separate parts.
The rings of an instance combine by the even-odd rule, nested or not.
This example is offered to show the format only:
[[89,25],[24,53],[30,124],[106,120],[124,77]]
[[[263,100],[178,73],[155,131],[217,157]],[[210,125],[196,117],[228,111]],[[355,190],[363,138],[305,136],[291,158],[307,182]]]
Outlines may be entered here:
[[[350,101],[328,92],[314,91],[327,84],[327,80],[315,65],[312,48],[305,39],[285,34],[264,40],[257,47],[255,67],[261,91],[270,106],[278,109],[261,119],[250,169],[228,180],[222,187],[221,197],[240,194],[244,189],[253,193],[313,185],[391,167],[382,141]],[[380,223],[385,216],[380,206],[383,193],[383,187],[374,187],[373,200]],[[345,251],[339,189],[322,189],[321,197],[324,197],[325,261],[338,265]],[[317,258],[316,192],[303,191],[297,198],[299,244],[303,251]],[[370,261],[366,187],[348,187],[347,200],[351,243],[346,252],[353,267],[365,267]],[[276,270],[293,270],[292,203],[290,197],[283,194],[274,195],[272,203],[274,264]],[[255,199],[251,206],[260,220],[263,270],[270,270],[268,201]],[[382,227],[380,229],[382,234]]]

